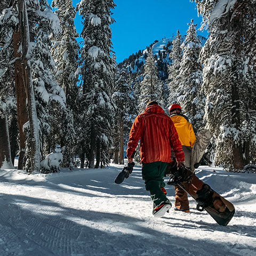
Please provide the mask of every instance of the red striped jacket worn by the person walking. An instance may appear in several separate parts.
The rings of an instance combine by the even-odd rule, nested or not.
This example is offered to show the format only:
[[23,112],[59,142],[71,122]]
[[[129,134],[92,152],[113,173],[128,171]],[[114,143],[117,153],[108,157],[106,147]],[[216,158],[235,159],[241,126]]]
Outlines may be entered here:
[[185,159],[171,118],[165,115],[164,110],[156,104],[148,106],[135,118],[127,143],[127,157],[131,157],[139,140],[141,163],[156,161],[169,163],[171,148],[178,162],[183,162]]

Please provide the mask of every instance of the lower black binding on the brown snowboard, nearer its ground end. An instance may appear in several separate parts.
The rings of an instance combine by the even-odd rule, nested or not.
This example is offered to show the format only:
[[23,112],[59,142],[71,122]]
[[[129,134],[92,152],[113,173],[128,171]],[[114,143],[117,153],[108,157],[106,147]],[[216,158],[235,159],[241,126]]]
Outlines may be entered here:
[[200,190],[196,192],[197,194],[197,205],[196,210],[202,212],[205,207],[212,206],[212,196],[213,196],[213,190],[211,187],[207,184],[204,184]]

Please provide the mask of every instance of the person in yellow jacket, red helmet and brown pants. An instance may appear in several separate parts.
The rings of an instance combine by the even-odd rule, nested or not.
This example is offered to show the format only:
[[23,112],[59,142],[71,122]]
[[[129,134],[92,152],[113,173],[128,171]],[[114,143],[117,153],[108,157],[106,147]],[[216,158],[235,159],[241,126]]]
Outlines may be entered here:
[[[178,104],[172,104],[169,108],[169,115],[178,132],[179,140],[185,154],[185,166],[190,167],[191,150],[196,140],[192,125],[188,118],[182,114],[181,107]],[[188,194],[179,186],[175,188],[175,208],[176,211],[189,212]]]

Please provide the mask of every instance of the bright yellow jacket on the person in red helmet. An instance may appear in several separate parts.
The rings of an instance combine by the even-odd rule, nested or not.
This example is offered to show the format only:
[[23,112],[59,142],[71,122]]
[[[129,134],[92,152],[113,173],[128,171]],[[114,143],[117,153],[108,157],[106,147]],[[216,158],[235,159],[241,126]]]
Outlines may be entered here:
[[192,148],[196,140],[192,125],[182,115],[173,115],[171,119],[178,132],[181,145]]

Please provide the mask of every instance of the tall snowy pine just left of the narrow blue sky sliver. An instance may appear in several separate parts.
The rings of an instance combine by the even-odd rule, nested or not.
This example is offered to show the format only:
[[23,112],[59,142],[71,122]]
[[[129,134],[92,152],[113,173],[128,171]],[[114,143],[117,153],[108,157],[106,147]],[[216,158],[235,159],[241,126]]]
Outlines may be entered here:
[[[63,109],[60,124],[60,145],[65,146],[63,151],[62,166],[68,167],[70,159],[74,157],[75,127],[74,119],[77,117],[77,74],[79,45],[76,38],[79,36],[74,26],[76,15],[71,0],[53,0],[52,7],[56,7],[55,13],[60,20],[62,32],[53,38],[51,53],[55,66],[55,78],[61,89],[65,92],[67,110]],[[73,116],[74,115],[74,116]],[[77,126],[79,124],[77,123]]]

